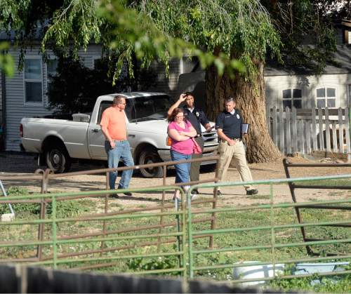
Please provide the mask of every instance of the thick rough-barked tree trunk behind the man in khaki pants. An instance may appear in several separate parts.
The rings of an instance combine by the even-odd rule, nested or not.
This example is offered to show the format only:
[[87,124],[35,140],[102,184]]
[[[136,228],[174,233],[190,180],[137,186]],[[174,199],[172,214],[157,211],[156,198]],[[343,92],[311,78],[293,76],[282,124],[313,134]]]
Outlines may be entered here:
[[215,67],[206,69],[206,109],[208,118],[216,119],[224,109],[224,100],[237,99],[245,123],[250,123],[249,135],[245,136],[246,157],[250,163],[268,162],[282,159],[282,154],[274,145],[267,130],[265,116],[265,81],[263,63],[257,62],[258,74],[251,82],[242,76],[230,79],[228,74],[218,76]]

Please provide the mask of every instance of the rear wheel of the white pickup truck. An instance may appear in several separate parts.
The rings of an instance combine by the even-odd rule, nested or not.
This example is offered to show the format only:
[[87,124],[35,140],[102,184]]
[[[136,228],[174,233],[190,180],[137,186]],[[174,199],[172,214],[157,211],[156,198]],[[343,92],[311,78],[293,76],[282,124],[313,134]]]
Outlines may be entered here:
[[57,146],[46,149],[46,165],[54,173],[65,173],[71,167],[71,158],[65,147]]

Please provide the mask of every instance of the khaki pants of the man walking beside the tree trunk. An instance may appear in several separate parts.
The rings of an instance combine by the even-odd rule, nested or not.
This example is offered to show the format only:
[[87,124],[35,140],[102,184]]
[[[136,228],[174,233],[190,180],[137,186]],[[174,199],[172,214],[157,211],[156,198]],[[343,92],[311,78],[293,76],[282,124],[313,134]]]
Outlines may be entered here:
[[[227,142],[220,140],[218,151],[220,154],[220,162],[218,167],[219,182],[223,182],[225,179],[225,175],[232,158],[234,158],[235,167],[239,171],[241,182],[252,181],[252,175],[249,166],[247,166],[246,163],[246,154],[242,141],[237,141],[233,146],[230,146]],[[251,185],[244,185],[244,187],[246,191],[255,189]]]

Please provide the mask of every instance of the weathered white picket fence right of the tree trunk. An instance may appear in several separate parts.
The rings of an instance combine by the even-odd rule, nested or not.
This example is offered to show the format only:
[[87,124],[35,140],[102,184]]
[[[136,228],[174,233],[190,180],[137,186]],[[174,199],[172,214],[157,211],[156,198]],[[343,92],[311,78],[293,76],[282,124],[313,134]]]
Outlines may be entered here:
[[267,109],[270,136],[284,154],[350,154],[349,109]]

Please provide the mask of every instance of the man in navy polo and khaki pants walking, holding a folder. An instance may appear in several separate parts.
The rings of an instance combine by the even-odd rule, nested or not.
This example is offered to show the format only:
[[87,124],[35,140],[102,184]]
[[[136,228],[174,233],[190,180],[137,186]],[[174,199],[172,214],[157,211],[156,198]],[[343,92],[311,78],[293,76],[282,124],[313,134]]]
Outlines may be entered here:
[[[252,181],[251,171],[246,163],[244,144],[241,140],[243,119],[239,109],[235,109],[236,105],[237,101],[234,98],[225,100],[225,110],[218,115],[216,120],[216,129],[218,138],[220,139],[218,147],[220,154],[218,167],[219,182],[225,179],[225,174],[232,158],[234,158],[234,164],[239,171],[241,181]],[[258,190],[252,185],[244,185],[244,187],[246,195],[258,194]],[[219,189],[217,194],[222,194]]]

